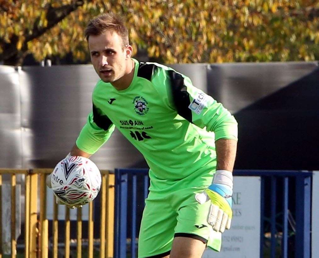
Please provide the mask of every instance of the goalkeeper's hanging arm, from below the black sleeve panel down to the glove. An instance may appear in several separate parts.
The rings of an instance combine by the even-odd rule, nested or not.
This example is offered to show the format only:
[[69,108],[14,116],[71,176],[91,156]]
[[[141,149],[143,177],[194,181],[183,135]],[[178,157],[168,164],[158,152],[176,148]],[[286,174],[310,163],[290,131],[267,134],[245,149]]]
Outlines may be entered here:
[[[233,168],[237,149],[237,121],[231,113],[211,96],[191,85],[186,77],[189,109],[193,124],[213,132],[217,167],[211,185],[195,195],[200,204],[211,201],[207,222],[217,232],[223,233],[231,226],[233,216]],[[208,139],[206,139],[208,140]]]

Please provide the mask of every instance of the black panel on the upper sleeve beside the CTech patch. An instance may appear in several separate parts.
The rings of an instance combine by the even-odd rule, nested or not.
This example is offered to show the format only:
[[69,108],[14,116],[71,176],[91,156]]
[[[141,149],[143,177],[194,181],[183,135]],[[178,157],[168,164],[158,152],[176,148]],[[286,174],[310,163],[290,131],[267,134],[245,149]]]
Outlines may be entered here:
[[167,74],[171,81],[172,95],[177,113],[192,123],[192,111],[189,109],[190,100],[184,78],[173,70],[168,70]]

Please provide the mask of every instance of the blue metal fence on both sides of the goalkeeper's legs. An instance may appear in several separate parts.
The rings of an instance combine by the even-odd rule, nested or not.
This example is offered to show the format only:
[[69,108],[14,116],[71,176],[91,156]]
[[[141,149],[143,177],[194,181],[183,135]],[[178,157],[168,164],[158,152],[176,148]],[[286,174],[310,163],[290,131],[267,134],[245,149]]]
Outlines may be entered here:
[[[263,258],[264,253],[264,227],[266,226],[264,223],[268,222],[271,232],[271,258],[278,257],[276,254],[276,234],[278,237],[280,228],[282,232],[280,257],[291,257],[288,253],[288,250],[291,249],[288,249],[289,224],[295,238],[294,250],[290,250],[290,253],[296,258],[310,258],[312,172],[235,170],[233,174],[234,176],[261,177],[260,257]],[[130,252],[130,257],[137,257],[137,227],[141,220],[141,214],[137,216],[137,208],[144,207],[148,187],[148,169],[115,169],[115,258],[127,257],[128,252]],[[143,196],[137,195],[137,192],[143,193]],[[282,192],[282,196],[278,192]],[[265,209],[265,201],[267,210]],[[280,210],[282,210],[280,226],[278,223],[276,224],[278,220],[281,220],[276,211],[278,204],[282,204],[280,205]],[[295,210],[295,219],[290,213],[293,209]],[[269,210],[270,215],[267,217]],[[295,225],[292,222],[294,220]],[[130,227],[128,227],[129,224]]]

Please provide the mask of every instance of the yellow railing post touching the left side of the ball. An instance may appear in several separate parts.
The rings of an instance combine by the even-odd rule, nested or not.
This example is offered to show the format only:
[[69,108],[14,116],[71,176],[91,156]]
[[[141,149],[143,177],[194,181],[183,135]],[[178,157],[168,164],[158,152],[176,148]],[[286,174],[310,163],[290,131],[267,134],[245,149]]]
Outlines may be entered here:
[[[41,173],[41,172],[40,172]],[[46,175],[40,174],[40,227],[41,227],[41,238],[40,238],[40,251],[41,257],[48,257],[48,223],[47,218],[47,186],[45,183]]]

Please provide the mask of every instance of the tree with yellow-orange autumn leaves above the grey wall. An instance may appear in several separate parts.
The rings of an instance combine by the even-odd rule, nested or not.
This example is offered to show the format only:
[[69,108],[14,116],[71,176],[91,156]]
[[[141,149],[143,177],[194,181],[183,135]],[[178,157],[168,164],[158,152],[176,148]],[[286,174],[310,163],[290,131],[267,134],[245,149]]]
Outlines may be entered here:
[[135,50],[166,63],[319,59],[316,0],[0,0],[0,61],[89,60],[90,18],[126,19]]

